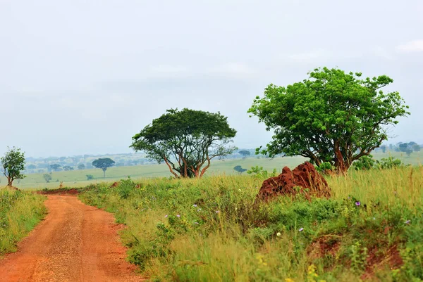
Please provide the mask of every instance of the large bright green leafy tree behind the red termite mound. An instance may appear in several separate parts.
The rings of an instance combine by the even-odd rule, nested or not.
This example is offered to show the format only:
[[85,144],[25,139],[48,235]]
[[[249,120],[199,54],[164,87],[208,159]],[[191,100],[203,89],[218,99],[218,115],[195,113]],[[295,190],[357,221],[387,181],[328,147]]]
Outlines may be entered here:
[[361,76],[318,68],[302,82],[267,86],[264,97],[257,96],[248,110],[274,131],[262,153],[302,155],[345,173],[354,160],[381,146],[388,139],[386,127],[410,113],[398,92],[381,91],[393,79]]

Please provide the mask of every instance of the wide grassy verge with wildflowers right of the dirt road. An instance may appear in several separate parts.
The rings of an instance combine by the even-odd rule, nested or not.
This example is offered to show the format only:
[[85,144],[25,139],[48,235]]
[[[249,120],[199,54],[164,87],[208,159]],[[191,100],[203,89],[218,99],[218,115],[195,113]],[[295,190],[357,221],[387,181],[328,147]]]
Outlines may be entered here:
[[253,205],[251,176],[130,179],[80,194],[113,212],[151,281],[422,281],[423,167],[328,179],[329,200]]

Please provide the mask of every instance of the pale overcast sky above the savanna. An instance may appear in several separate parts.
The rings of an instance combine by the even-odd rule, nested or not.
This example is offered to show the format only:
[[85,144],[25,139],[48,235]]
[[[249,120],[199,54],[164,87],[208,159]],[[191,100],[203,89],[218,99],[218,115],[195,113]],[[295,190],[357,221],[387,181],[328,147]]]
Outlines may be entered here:
[[388,75],[423,143],[421,0],[0,0],[0,154],[130,153],[168,108],[220,111],[239,148],[271,140],[249,117],[268,84],[317,67]]

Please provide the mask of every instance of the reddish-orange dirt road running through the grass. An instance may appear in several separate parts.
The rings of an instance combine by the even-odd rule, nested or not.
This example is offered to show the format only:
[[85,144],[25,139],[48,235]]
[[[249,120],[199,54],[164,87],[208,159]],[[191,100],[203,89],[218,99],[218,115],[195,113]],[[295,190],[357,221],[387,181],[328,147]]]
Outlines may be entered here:
[[125,262],[113,215],[75,196],[48,196],[49,214],[0,259],[0,281],[142,281]]

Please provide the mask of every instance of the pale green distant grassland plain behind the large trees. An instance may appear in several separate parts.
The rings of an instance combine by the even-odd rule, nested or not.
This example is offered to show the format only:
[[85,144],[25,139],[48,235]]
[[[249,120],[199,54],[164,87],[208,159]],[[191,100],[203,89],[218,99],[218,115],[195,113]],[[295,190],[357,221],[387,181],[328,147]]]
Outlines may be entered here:
[[[423,163],[423,153],[412,153],[410,158],[407,158],[404,153],[374,153],[374,158],[380,160],[381,158],[388,158],[392,155],[394,158],[399,158],[406,164],[410,165],[421,165]],[[113,158],[113,156],[111,156]],[[233,167],[240,165],[245,169],[250,169],[253,166],[260,166],[266,170],[278,169],[281,172],[285,166],[295,167],[302,162],[305,162],[306,158],[302,157],[284,157],[274,158],[273,160],[265,158],[256,158],[252,156],[245,159],[231,159],[231,160],[215,160],[212,162],[212,166],[207,170],[205,176],[209,177],[212,175],[231,175],[236,174],[233,171]],[[87,174],[92,174],[94,179],[87,181]],[[132,179],[152,178],[152,177],[170,177],[171,174],[168,171],[166,165],[137,165],[130,167],[111,167],[106,171],[106,179],[103,178],[102,169],[75,169],[73,171],[62,171],[52,172],[50,183],[46,183],[43,178],[43,174],[27,174],[25,179],[13,182],[13,185],[18,188],[58,188],[59,182],[63,181],[63,186],[68,187],[82,187],[92,183],[99,183],[102,181],[117,181],[119,179],[127,178],[130,176]],[[0,186],[6,185],[6,179],[1,178]]]

